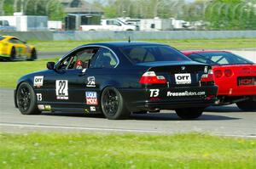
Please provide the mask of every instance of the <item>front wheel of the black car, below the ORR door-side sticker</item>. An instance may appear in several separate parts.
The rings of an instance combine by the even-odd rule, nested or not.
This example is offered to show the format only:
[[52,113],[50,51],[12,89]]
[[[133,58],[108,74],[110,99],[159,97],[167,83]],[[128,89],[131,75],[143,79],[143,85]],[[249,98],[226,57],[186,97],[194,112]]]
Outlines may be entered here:
[[27,83],[22,82],[17,89],[16,103],[22,115],[39,115],[37,97],[33,88]]

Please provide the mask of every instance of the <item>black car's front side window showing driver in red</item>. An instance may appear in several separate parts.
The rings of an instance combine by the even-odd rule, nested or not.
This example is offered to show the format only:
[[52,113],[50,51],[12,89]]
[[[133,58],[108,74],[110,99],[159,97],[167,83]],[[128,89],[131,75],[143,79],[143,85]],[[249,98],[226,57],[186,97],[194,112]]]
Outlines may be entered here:
[[90,59],[97,53],[99,48],[80,48],[69,54],[66,59],[61,61],[58,69],[84,69],[88,68]]

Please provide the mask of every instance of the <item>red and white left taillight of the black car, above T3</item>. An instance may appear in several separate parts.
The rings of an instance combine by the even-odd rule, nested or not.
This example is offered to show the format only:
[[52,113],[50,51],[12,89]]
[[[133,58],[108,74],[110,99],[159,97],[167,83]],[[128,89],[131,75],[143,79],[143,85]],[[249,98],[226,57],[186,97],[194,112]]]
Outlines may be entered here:
[[140,79],[141,84],[166,84],[166,78],[164,76],[156,76],[154,71],[147,71]]

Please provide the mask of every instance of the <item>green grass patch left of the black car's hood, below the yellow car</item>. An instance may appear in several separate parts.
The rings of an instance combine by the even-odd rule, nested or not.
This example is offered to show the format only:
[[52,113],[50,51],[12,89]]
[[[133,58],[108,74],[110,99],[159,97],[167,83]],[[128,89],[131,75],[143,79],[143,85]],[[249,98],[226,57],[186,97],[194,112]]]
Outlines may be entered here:
[[57,59],[41,59],[38,61],[0,62],[0,87],[15,88],[17,80],[33,71],[45,70],[48,61]]

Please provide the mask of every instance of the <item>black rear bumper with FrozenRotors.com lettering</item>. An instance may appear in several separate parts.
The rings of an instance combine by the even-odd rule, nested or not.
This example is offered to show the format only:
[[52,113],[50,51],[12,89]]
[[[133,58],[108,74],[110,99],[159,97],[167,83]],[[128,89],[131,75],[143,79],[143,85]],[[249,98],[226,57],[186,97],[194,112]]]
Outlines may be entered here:
[[[217,86],[210,87],[170,87],[161,88],[159,97],[150,97],[150,89],[119,89],[130,111],[175,110],[190,107],[207,107],[217,100]],[[204,92],[196,96],[168,96],[168,92],[184,93]]]

